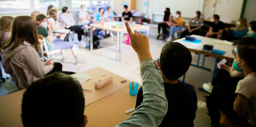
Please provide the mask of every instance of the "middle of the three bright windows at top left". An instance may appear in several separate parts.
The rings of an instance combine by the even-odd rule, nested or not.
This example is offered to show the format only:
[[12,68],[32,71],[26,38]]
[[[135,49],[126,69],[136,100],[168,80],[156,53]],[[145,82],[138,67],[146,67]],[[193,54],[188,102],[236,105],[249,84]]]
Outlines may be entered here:
[[34,0],[35,9],[47,9],[49,5],[59,8],[59,0]]

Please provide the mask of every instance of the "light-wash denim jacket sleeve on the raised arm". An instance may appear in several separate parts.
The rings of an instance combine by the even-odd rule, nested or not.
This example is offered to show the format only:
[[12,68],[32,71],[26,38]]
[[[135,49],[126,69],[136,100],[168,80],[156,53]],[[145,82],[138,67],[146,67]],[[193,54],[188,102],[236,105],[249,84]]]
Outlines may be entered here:
[[168,103],[164,92],[162,75],[153,59],[139,63],[142,76],[143,102],[130,118],[115,127],[157,127],[166,115]]

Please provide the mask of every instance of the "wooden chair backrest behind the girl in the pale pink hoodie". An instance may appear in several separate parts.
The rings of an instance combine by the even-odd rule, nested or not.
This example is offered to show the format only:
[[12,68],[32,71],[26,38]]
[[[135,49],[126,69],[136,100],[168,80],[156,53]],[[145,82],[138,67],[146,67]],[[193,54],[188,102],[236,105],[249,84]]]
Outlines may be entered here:
[[17,65],[14,65],[12,64],[11,62],[9,62],[10,65],[11,65],[11,68],[13,69],[13,73],[16,77],[20,77],[21,80],[22,80],[22,83],[23,84],[19,84],[19,85],[24,85],[26,88],[28,87],[28,83],[27,83],[27,76],[23,70],[23,68],[17,66]]

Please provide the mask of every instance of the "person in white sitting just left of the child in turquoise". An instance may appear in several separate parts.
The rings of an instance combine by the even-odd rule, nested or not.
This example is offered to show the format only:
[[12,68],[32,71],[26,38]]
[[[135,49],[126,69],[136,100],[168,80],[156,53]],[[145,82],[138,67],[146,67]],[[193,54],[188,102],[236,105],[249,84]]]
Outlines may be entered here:
[[82,26],[84,26],[85,31],[87,32],[89,29],[91,16],[85,10],[85,5],[81,5],[81,11],[78,13],[78,18]]

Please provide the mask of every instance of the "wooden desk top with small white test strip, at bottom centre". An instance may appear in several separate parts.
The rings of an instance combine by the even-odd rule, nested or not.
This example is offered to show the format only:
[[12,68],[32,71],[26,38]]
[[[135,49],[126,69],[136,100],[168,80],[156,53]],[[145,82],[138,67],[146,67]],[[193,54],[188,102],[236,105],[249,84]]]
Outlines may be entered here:
[[[139,86],[140,87],[140,86]],[[126,114],[124,111],[135,108],[136,96],[129,94],[129,86],[95,102],[85,108],[88,124],[86,127],[113,127],[127,118],[132,113]]]

